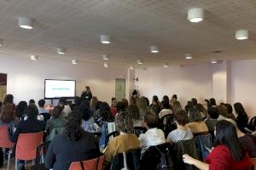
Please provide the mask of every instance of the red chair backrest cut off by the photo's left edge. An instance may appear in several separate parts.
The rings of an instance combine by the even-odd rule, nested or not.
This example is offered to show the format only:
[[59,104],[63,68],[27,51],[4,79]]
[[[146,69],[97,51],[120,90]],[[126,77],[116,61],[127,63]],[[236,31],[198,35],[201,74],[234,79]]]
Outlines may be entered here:
[[9,131],[9,127],[7,125],[0,126],[0,147],[1,148],[12,148],[15,145],[9,140],[8,131]]

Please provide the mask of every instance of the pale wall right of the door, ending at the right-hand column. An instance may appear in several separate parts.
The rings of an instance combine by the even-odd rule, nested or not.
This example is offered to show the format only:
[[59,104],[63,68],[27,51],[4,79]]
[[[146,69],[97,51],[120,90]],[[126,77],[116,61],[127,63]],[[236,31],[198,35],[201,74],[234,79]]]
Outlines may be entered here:
[[184,106],[195,97],[200,102],[212,97],[212,68],[211,65],[171,66],[168,68],[150,68],[136,70],[137,82],[141,95],[152,99],[158,95],[177,94],[178,100]]

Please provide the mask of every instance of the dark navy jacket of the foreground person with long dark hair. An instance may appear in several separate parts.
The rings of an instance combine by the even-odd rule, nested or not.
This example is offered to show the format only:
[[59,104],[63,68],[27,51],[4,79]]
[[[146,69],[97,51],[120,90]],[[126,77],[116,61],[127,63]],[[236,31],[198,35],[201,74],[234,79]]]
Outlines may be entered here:
[[49,144],[45,158],[45,167],[56,170],[68,170],[73,161],[84,161],[99,156],[100,150],[96,137],[83,131],[82,139],[72,141],[66,133],[55,136]]

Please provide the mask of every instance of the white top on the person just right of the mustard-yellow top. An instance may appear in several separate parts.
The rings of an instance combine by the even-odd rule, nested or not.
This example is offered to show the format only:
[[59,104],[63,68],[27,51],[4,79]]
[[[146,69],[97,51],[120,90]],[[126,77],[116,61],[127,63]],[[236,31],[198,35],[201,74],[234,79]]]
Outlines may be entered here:
[[148,150],[149,146],[166,143],[165,133],[159,128],[150,128],[146,133],[139,136],[140,148],[142,150],[141,156]]

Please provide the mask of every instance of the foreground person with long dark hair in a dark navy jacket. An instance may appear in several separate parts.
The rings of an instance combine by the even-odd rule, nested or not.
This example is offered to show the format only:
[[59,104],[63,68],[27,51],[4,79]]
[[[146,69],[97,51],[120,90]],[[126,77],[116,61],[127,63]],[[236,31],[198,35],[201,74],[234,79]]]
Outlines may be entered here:
[[82,116],[73,111],[67,116],[66,131],[57,134],[49,144],[45,157],[47,169],[66,170],[73,161],[84,161],[99,156],[96,137],[81,127]]

